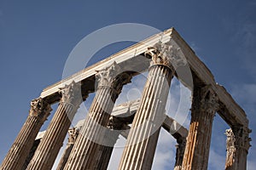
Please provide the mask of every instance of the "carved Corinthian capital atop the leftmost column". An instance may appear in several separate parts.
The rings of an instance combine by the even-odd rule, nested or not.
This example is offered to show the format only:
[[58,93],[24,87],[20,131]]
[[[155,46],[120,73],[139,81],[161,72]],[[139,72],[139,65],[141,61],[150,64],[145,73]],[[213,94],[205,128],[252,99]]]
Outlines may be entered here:
[[42,121],[45,121],[49,116],[49,112],[52,111],[50,105],[42,98],[32,99],[30,105],[29,115],[37,116]]

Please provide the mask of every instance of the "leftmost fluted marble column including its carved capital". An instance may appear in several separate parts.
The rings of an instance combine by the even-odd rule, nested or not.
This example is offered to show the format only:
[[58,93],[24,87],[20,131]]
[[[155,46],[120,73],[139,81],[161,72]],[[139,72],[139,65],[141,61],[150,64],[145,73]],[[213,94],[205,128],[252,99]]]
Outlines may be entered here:
[[29,155],[37,134],[49,116],[52,109],[44,99],[33,99],[26,122],[20,130],[14,144],[11,146],[0,167],[1,170],[19,170]]

